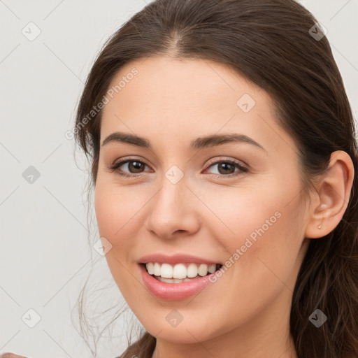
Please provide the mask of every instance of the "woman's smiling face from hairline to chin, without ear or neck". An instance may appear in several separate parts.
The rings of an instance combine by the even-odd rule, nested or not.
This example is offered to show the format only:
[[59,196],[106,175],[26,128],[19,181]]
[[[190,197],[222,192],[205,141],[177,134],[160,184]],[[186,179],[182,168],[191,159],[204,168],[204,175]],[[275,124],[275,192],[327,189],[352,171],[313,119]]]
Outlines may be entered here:
[[[122,67],[109,89],[121,80],[103,108],[95,210],[129,307],[150,334],[177,343],[282,327],[308,218],[296,144],[271,98],[199,59],[148,57]],[[116,132],[144,141],[110,140]],[[198,139],[210,136],[223,137]],[[189,296],[157,296],[138,264],[157,253],[222,264],[221,275]]]

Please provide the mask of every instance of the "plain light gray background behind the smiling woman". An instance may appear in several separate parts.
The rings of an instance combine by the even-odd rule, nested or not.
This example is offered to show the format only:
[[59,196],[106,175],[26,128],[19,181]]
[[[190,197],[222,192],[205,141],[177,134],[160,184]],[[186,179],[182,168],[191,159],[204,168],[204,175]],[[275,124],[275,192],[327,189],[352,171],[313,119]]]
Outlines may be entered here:
[[[358,1],[300,2],[328,30],[357,119]],[[80,154],[75,162],[73,140],[64,134],[72,129],[76,103],[101,45],[145,4],[0,0],[0,353],[91,356],[71,324],[71,309],[92,262],[94,278],[113,280],[104,257],[87,243],[87,164]],[[22,34],[22,29],[27,36],[36,34],[29,22],[41,30],[34,41]],[[40,173],[33,183],[22,176],[29,166]],[[93,217],[92,231],[95,241]],[[106,301],[123,302],[117,287],[109,291]],[[25,324],[36,318],[29,309],[41,316],[34,328]],[[99,308],[92,306],[93,312]],[[136,320],[130,313],[127,317]],[[98,357],[122,352],[126,327],[127,322],[117,322],[115,337],[106,334]]]

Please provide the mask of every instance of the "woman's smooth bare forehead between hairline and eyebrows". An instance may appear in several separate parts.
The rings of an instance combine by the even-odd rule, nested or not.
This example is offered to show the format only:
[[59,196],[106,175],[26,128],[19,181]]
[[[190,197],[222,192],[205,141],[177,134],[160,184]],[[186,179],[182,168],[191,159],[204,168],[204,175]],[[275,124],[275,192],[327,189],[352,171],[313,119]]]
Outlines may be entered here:
[[235,131],[277,150],[294,146],[275,120],[271,97],[225,64],[147,57],[123,66],[108,90],[101,141],[113,131],[162,139],[185,134],[188,142]]

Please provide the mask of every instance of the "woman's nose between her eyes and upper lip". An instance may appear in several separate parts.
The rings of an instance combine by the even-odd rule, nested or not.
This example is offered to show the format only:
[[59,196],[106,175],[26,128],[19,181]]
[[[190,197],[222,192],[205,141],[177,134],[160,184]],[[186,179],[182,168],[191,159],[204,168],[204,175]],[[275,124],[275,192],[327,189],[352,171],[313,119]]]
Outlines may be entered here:
[[176,238],[199,230],[199,201],[187,187],[185,178],[173,184],[166,178],[152,198],[148,212],[147,229],[159,238]]

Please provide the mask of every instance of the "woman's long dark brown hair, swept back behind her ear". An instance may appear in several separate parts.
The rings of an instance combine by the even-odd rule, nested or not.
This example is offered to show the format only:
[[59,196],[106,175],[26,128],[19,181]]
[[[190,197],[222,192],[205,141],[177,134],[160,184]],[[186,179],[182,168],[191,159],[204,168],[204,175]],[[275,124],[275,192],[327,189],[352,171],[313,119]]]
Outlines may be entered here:
[[[317,20],[293,0],[149,3],[108,39],[80,99],[75,136],[90,156],[92,185],[96,185],[99,162],[101,110],[87,121],[84,118],[102,101],[124,64],[163,55],[228,64],[268,92],[279,124],[299,148],[304,193],[313,189],[315,176],[327,170],[332,152],[343,150],[350,155],[355,176],[348,208],[331,233],[310,241],[294,288],[290,333],[299,358],[357,358],[355,122],[329,41]],[[328,317],[319,329],[308,320],[317,308]],[[155,337],[143,332],[122,357],[149,358],[155,343]]]

